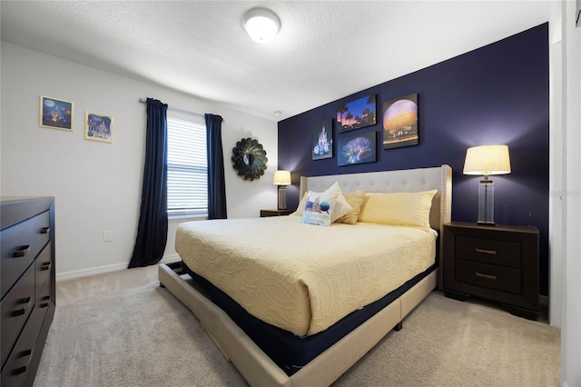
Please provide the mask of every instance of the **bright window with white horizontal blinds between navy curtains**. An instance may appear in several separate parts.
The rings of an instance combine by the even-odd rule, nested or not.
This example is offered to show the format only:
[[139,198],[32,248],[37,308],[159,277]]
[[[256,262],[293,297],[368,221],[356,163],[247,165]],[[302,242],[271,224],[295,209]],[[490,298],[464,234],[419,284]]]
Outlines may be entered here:
[[167,111],[169,217],[208,216],[206,124],[202,117]]

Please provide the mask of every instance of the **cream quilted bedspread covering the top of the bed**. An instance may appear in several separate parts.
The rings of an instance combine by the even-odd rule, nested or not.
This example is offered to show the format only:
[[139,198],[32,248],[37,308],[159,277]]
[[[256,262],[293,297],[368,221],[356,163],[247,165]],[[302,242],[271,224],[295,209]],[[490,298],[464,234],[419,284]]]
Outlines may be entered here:
[[304,336],[428,269],[435,233],[374,223],[322,227],[300,216],[212,220],[180,224],[175,249],[249,313]]

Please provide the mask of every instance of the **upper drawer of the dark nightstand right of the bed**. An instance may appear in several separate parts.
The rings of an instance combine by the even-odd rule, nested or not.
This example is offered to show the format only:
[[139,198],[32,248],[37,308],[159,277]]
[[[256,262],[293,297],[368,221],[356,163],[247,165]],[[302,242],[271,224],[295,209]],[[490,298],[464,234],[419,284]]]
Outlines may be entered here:
[[457,259],[520,268],[520,250],[520,243],[517,242],[466,236],[456,238]]

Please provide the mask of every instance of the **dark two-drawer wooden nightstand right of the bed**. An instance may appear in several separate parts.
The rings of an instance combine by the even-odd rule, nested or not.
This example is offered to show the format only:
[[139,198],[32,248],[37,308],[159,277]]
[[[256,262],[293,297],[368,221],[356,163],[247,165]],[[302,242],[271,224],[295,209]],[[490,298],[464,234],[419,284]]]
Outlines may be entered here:
[[536,227],[444,224],[444,293],[502,303],[508,312],[537,320]]

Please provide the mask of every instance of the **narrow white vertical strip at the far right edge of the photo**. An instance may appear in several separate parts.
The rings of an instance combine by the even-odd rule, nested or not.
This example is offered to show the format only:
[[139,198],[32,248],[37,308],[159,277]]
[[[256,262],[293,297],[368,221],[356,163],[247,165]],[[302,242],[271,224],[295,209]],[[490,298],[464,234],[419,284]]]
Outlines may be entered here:
[[561,330],[561,383],[564,386],[581,385],[581,27],[576,27],[578,8],[576,2],[562,1],[563,55],[562,70],[562,120],[564,127],[560,158],[565,165],[564,236],[560,259],[562,299]]

